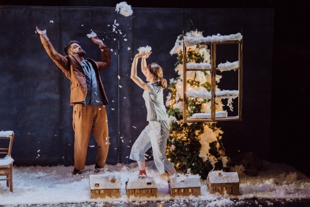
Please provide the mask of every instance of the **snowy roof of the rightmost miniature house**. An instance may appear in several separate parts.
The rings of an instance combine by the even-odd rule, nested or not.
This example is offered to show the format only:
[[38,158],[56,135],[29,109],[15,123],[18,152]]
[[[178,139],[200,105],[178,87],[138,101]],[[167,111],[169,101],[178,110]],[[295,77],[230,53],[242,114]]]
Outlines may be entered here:
[[211,171],[208,174],[210,183],[238,183],[239,176],[236,172]]

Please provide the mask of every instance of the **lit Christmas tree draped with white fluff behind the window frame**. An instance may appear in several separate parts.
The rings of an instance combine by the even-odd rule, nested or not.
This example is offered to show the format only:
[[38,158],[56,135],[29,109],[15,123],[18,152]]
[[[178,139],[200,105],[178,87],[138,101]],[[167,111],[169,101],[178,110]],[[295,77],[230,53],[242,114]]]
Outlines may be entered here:
[[[187,37],[202,37],[202,32],[189,31]],[[187,63],[210,63],[210,50],[207,45],[187,47]],[[228,157],[221,142],[223,131],[216,127],[216,122],[183,123],[183,35],[179,35],[171,55],[178,54],[175,71],[179,77],[170,79],[166,106],[170,121],[170,134],[167,141],[166,155],[175,164],[177,171],[199,174],[206,179],[212,170],[227,170]],[[187,91],[211,91],[210,71],[188,71]],[[216,75],[216,82],[221,76]],[[216,90],[219,90],[216,88]],[[197,113],[211,113],[211,99],[187,97],[187,117]],[[216,112],[223,111],[220,98],[216,99]]]

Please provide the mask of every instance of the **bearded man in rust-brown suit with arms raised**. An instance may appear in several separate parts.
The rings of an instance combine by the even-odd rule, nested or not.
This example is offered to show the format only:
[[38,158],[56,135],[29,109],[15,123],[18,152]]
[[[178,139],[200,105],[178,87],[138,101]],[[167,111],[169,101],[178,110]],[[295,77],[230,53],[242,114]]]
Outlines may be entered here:
[[36,28],[46,52],[71,81],[70,106],[73,105],[73,130],[75,132],[72,174],[80,174],[80,170],[85,168],[90,133],[97,142],[95,169],[103,171],[109,149],[108,120],[104,107],[108,101],[99,72],[111,65],[110,49],[96,36],[91,40],[99,45],[100,62],[84,59],[86,52],[75,40],[65,46],[67,56],[64,57],[56,52],[47,37],[46,30],[41,31],[38,27]]

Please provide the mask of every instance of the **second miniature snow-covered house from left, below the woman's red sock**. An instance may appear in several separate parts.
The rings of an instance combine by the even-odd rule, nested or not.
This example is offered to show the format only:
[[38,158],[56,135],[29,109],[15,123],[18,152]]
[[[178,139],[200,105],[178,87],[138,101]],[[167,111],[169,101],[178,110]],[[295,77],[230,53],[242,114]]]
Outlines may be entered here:
[[153,177],[137,176],[126,182],[127,197],[157,197],[157,185]]

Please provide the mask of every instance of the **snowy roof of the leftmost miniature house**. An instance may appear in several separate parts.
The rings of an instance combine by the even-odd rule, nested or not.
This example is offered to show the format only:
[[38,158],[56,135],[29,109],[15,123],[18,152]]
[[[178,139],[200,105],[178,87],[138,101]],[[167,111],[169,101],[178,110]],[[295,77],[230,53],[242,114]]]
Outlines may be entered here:
[[121,178],[119,175],[90,175],[89,184],[91,190],[120,189]]

